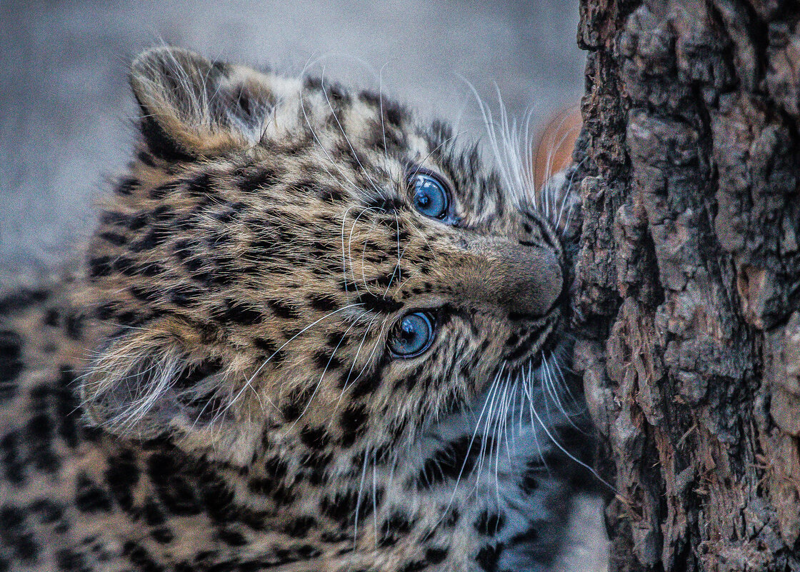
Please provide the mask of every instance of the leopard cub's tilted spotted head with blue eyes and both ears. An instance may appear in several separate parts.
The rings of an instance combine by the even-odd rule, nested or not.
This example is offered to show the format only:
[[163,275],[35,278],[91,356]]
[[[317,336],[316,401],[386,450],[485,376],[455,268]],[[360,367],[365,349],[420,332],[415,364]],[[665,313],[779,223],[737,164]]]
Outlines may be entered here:
[[446,126],[172,48],[131,82],[141,147],[84,293],[110,328],[94,422],[247,463],[276,436],[413,437],[538,362],[558,237]]

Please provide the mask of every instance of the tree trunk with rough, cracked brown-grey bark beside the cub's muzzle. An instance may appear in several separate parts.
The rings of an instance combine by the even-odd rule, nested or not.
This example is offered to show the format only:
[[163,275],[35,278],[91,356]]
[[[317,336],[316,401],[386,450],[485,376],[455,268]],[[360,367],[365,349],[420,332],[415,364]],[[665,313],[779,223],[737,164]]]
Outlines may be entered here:
[[800,570],[800,7],[583,0],[576,363],[611,570]]

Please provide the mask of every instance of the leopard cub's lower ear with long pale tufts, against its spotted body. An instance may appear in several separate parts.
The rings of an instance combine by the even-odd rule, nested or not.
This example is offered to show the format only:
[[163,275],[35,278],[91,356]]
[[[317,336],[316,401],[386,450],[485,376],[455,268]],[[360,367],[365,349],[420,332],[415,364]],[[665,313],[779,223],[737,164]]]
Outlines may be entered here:
[[[176,320],[129,330],[92,362],[81,386],[89,421],[114,434],[197,438],[210,430],[230,438],[234,408],[222,362],[190,354],[196,337]],[[207,438],[206,438],[207,444]]]

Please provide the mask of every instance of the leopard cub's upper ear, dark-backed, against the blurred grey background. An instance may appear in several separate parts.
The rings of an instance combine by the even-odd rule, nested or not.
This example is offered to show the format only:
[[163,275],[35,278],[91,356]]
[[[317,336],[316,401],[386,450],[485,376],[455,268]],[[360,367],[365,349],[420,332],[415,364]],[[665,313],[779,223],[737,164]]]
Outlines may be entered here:
[[170,161],[225,154],[261,138],[274,94],[270,76],[162,46],[139,54],[130,86],[154,155]]

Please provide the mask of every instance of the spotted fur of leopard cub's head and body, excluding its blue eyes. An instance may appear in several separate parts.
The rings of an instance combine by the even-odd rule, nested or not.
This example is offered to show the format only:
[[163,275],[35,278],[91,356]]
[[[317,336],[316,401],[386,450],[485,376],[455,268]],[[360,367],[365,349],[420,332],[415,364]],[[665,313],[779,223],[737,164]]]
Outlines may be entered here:
[[172,48],[131,82],[85,278],[0,302],[0,570],[546,570],[590,439],[532,190],[380,94]]

